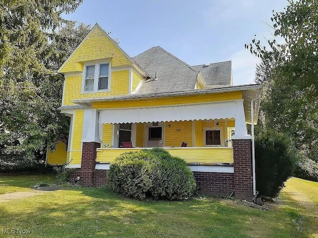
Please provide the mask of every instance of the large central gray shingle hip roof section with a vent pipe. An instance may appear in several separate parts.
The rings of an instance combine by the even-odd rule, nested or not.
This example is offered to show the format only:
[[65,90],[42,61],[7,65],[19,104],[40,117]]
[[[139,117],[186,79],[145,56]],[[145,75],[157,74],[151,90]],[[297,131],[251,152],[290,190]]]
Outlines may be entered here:
[[[193,90],[198,72],[161,47],[152,47],[133,58],[150,76],[138,93]],[[158,79],[155,79],[158,72]]]

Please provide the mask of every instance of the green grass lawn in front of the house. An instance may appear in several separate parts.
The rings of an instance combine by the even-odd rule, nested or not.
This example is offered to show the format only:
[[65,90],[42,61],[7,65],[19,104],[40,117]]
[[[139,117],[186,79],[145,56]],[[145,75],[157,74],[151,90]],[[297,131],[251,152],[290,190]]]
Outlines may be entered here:
[[[0,183],[10,185],[1,187],[1,192],[14,191],[11,186],[16,190],[29,189],[28,186],[47,180],[52,181],[52,177],[0,176]],[[281,194],[283,202],[271,205],[269,211],[227,199],[198,197],[181,202],[142,202],[103,188],[70,188],[0,203],[0,229],[31,229],[30,235],[22,237],[32,238],[315,237],[316,218],[310,213],[318,208],[318,183],[306,182],[290,179]],[[306,189],[309,195],[303,199],[313,199],[316,204],[303,207],[292,193],[294,190],[303,193]]]

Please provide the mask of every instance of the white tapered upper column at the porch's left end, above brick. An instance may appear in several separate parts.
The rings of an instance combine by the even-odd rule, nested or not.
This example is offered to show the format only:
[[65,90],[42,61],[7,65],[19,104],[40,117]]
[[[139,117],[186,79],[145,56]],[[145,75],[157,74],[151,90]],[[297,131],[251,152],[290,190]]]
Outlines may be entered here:
[[82,142],[98,142],[99,138],[99,111],[95,109],[85,110],[83,119]]

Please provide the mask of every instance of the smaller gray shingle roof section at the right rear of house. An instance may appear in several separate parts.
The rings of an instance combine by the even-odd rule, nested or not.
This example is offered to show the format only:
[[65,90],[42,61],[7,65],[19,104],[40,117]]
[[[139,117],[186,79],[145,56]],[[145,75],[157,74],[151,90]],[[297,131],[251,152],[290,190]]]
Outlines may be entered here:
[[192,66],[198,72],[201,72],[208,86],[231,84],[231,61],[210,63]]

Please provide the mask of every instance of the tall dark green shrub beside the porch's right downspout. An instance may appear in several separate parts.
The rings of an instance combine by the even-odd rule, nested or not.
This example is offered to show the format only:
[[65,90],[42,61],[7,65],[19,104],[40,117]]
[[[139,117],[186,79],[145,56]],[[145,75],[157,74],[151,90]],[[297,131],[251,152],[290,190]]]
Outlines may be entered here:
[[276,197],[293,175],[298,154],[291,140],[278,132],[262,131],[255,137],[256,190]]

